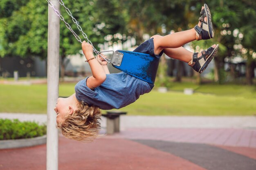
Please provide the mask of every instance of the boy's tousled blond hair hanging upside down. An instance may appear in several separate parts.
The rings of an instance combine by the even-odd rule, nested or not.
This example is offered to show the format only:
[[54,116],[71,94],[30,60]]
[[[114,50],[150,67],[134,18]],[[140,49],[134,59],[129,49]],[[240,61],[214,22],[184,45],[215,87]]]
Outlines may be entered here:
[[97,106],[79,102],[78,109],[63,123],[57,124],[63,136],[77,141],[90,142],[97,138],[101,129],[101,111]]

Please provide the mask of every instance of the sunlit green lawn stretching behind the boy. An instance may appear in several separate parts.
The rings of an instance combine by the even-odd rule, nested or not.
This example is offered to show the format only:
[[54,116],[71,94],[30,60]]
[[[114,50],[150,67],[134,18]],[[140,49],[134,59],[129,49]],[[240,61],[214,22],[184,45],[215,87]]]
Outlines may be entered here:
[[[71,95],[74,85],[61,84],[59,95]],[[195,93],[184,95],[184,88],[193,88]],[[0,84],[0,112],[46,113],[46,100],[46,84]],[[127,111],[129,115],[256,115],[256,87],[172,83],[167,93],[159,93],[155,88],[121,110]]]

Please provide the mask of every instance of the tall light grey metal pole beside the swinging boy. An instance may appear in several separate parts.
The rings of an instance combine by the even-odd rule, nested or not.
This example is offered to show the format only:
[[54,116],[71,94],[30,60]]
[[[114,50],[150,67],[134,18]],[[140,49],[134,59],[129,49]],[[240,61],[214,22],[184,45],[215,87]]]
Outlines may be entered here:
[[[58,0],[51,1],[59,11]],[[54,107],[58,99],[60,20],[48,5],[47,154],[46,169],[58,170],[58,129]]]

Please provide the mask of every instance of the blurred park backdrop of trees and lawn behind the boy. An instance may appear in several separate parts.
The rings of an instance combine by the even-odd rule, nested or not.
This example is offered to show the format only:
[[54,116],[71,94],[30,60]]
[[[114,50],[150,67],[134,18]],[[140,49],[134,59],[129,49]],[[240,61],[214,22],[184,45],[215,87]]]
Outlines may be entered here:
[[[207,3],[215,37],[184,46],[199,52],[212,44],[220,45],[207,70],[200,75],[186,63],[163,56],[154,91],[124,110],[132,115],[256,113],[254,0],[63,2],[98,51],[132,51],[152,35],[192,29],[198,23],[202,5]],[[60,8],[65,21],[82,38],[65,8]],[[47,14],[44,0],[0,2],[0,112],[46,113]],[[90,76],[91,72],[84,62],[81,44],[63,22],[60,26],[60,96],[68,96],[74,93],[76,82]],[[116,72],[111,66],[110,69]],[[164,87],[160,92],[167,92],[160,93],[158,87]],[[194,95],[183,93],[188,88]]]

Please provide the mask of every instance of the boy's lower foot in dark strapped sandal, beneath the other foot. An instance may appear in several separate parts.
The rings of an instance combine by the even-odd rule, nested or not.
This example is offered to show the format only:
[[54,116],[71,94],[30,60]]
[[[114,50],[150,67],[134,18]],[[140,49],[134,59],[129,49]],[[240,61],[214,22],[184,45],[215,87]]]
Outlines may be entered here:
[[194,53],[192,60],[189,62],[189,66],[191,66],[195,71],[202,73],[216,55],[218,48],[219,44],[214,44],[207,50],[203,50],[201,53]]

